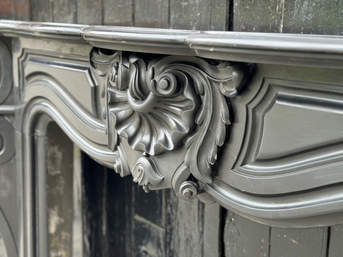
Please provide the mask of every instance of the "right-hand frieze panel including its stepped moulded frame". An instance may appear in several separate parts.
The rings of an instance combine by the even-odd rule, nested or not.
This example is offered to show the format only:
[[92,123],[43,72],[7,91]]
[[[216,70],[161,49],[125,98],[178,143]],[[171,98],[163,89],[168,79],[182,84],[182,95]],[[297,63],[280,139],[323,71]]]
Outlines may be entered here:
[[[239,178],[232,186],[281,194],[343,180],[343,135],[332,123],[343,114],[341,86],[264,78],[247,113],[246,138],[233,171],[261,186],[239,186]],[[334,127],[327,130],[330,123]]]

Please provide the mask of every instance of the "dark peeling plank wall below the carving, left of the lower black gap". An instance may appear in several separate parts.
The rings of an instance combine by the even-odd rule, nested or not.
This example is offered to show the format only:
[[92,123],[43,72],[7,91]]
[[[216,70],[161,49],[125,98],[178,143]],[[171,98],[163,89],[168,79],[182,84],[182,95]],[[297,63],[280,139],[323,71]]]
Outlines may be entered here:
[[219,205],[145,193],[86,155],[83,167],[84,256],[219,256]]

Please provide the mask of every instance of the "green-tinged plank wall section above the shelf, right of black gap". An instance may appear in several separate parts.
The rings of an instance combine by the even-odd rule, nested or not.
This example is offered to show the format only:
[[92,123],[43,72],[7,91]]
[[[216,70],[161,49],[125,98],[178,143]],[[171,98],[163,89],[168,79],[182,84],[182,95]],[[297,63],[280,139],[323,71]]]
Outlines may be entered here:
[[234,0],[233,30],[343,35],[343,0]]

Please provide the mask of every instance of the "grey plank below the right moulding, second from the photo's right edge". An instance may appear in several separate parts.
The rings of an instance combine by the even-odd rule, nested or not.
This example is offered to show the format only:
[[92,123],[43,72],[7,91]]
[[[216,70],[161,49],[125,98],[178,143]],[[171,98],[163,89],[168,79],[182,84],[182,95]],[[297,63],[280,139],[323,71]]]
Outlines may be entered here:
[[326,256],[327,228],[271,228],[270,256]]

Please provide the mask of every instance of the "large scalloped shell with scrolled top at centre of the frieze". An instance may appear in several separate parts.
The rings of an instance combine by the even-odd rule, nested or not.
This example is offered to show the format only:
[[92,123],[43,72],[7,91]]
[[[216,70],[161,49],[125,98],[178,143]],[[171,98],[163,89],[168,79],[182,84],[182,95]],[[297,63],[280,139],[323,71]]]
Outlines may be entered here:
[[129,80],[108,89],[109,112],[115,117],[118,134],[134,150],[150,155],[179,149],[183,139],[194,131],[199,109],[190,77],[168,59],[152,66],[154,60],[147,65],[132,54]]

